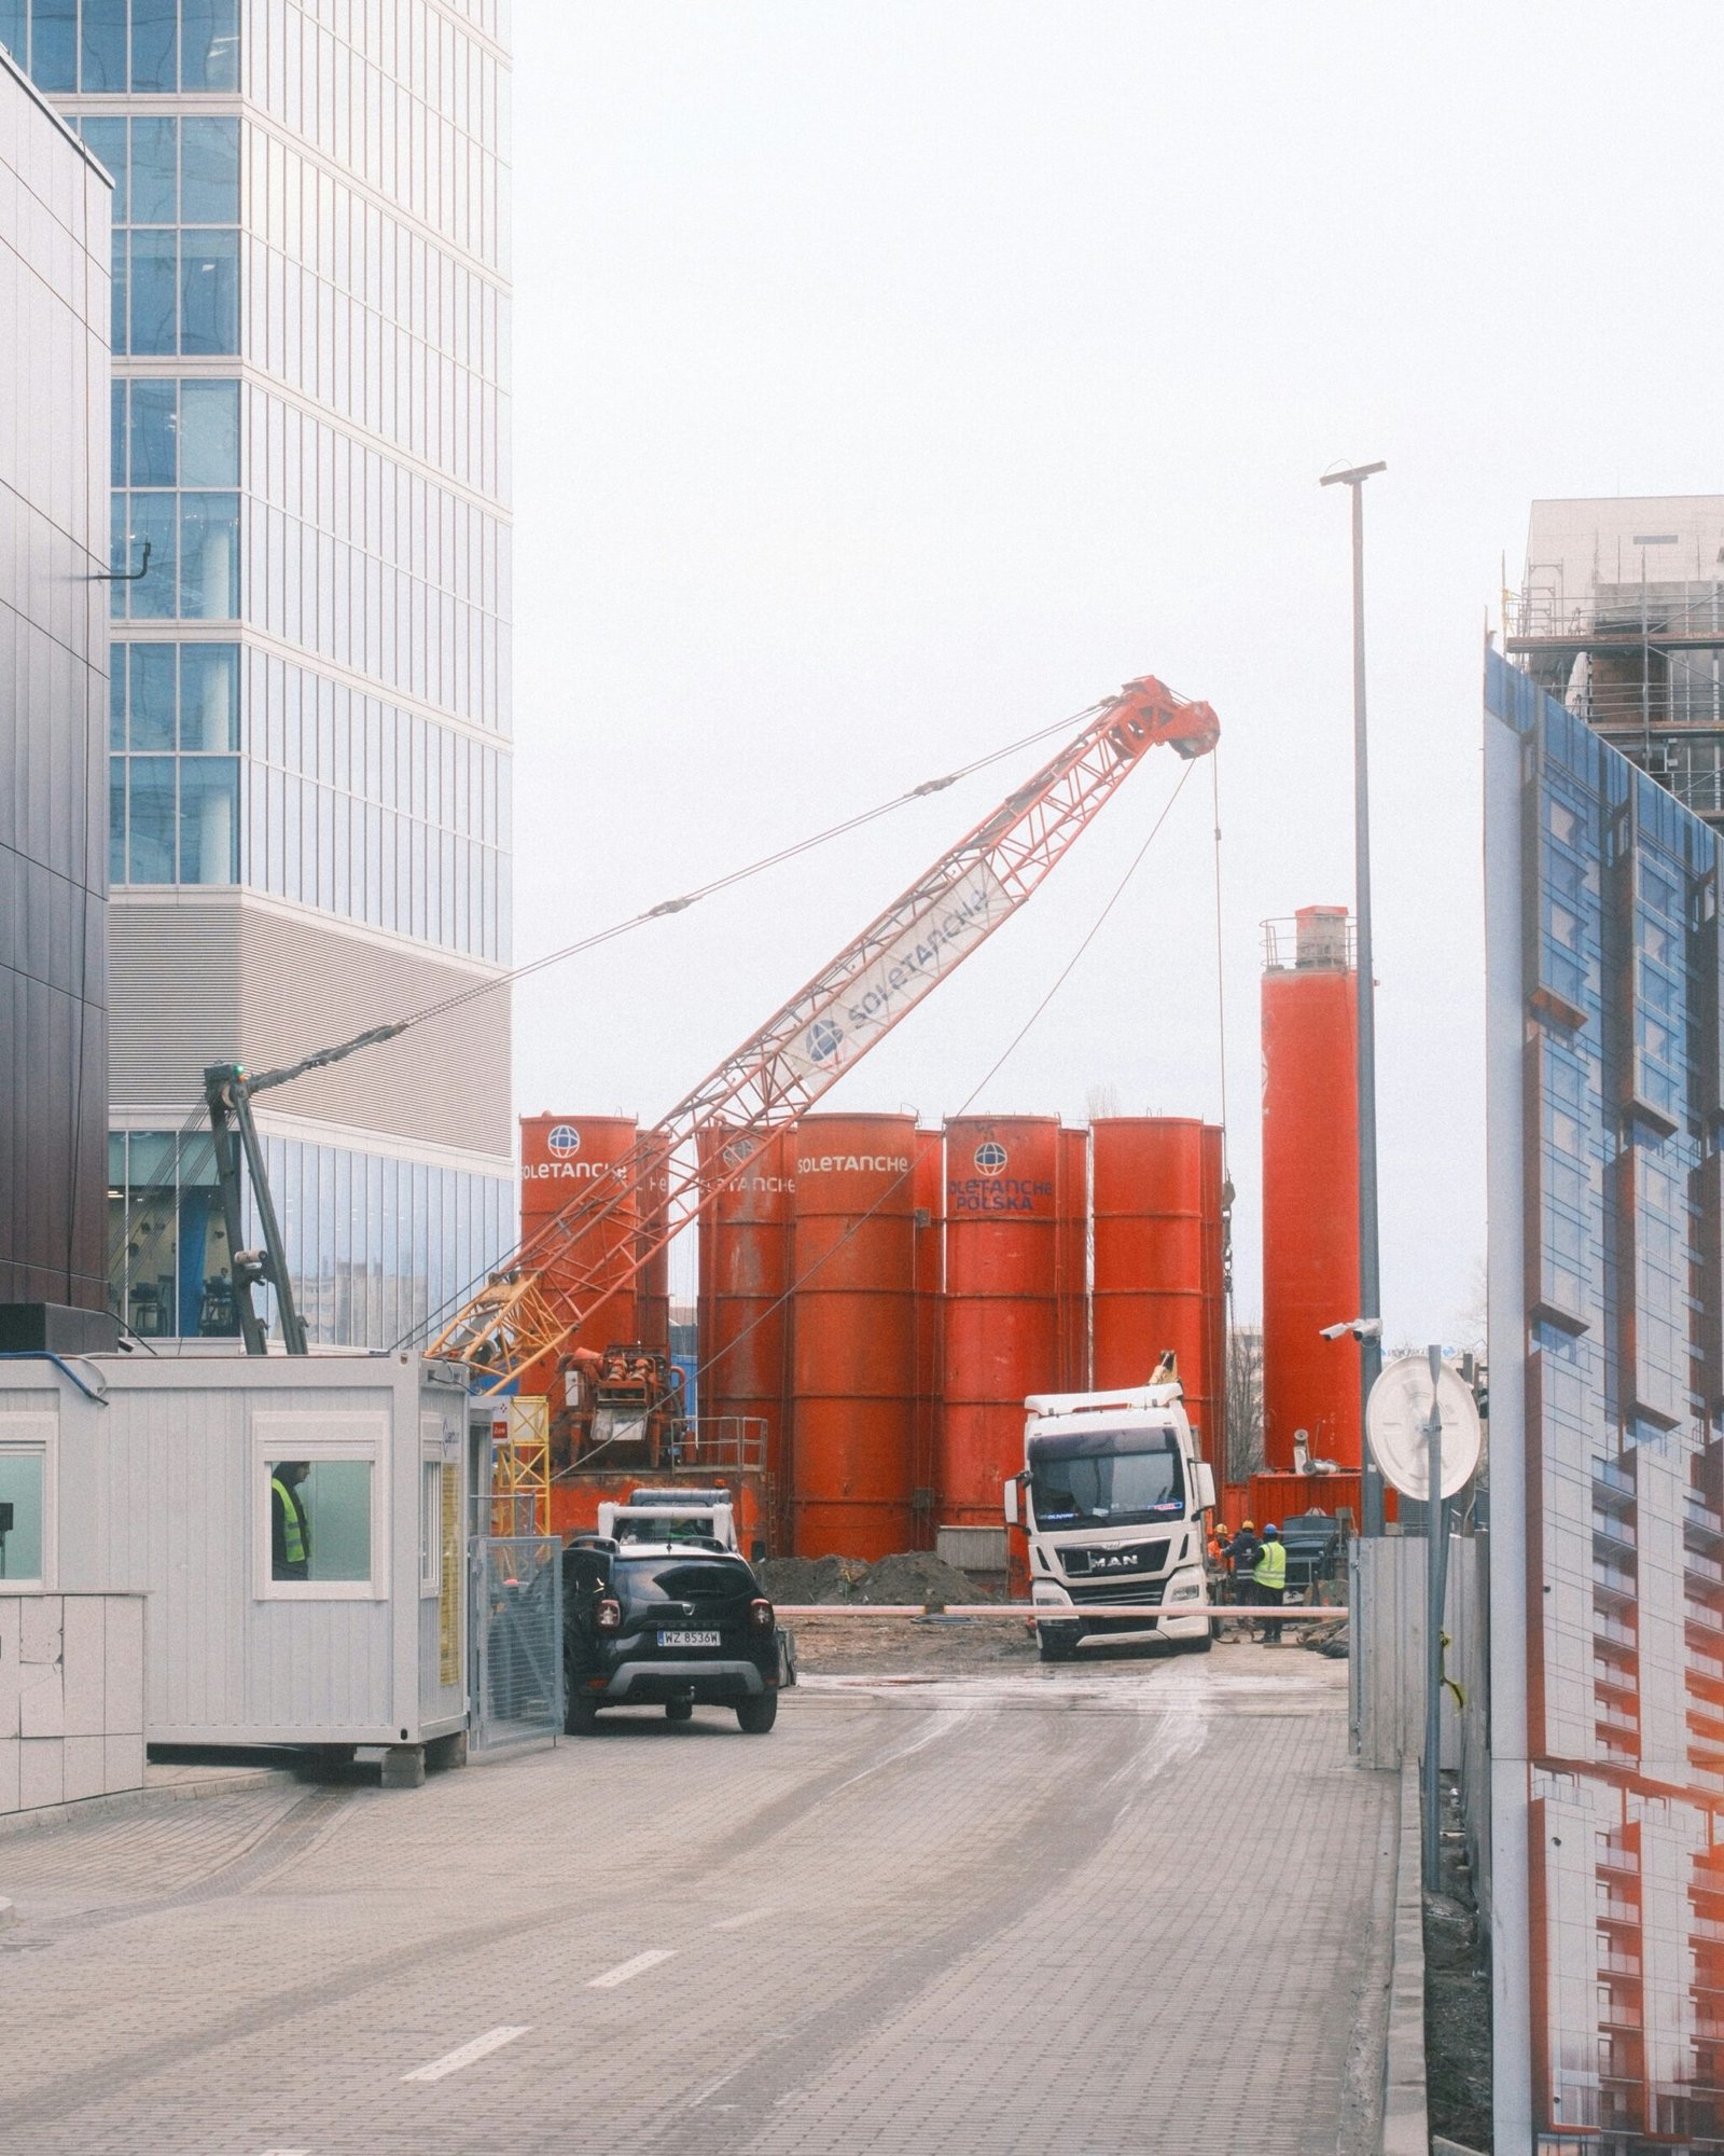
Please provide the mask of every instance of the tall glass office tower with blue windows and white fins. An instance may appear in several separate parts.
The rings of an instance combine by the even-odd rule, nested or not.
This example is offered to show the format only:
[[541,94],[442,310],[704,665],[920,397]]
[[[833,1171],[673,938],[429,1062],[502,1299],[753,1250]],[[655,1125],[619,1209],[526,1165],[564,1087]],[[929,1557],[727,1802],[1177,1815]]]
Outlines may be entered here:
[[504,0],[0,0],[114,175],[110,1276],[228,1335],[203,1069],[312,1341],[513,1242]]

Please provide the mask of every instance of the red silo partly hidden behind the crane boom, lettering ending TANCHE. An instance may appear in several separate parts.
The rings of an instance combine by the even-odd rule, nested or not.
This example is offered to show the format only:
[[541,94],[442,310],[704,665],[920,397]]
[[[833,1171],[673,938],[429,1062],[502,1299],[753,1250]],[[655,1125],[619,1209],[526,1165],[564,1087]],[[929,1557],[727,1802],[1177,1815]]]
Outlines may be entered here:
[[[787,1548],[784,1384],[791,1339],[791,1194],[795,1134],[780,1130],[752,1160],[735,1138],[700,1141],[703,1188],[718,1197],[700,1216],[700,1414],[767,1425],[767,1511],[771,1548]],[[726,1432],[715,1429],[722,1445]]]

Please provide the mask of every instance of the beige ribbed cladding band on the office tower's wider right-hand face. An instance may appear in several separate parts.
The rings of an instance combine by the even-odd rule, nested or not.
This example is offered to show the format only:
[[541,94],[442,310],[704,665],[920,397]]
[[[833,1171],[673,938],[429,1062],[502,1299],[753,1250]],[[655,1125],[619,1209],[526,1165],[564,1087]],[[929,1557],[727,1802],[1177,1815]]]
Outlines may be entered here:
[[[252,1069],[407,1018],[476,979],[465,966],[256,908],[244,918],[239,1031]],[[418,1143],[509,1153],[509,990],[312,1072],[272,1095],[269,1106]]]

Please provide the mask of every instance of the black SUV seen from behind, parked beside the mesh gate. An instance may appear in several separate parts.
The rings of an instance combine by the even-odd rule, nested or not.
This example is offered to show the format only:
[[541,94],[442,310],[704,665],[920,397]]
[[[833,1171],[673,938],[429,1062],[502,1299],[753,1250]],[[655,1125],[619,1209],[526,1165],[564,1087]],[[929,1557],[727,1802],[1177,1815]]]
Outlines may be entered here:
[[778,1617],[748,1563],[720,1542],[616,1544],[580,1535],[562,1552],[562,1727],[599,1708],[735,1708],[748,1736],[778,1718]]

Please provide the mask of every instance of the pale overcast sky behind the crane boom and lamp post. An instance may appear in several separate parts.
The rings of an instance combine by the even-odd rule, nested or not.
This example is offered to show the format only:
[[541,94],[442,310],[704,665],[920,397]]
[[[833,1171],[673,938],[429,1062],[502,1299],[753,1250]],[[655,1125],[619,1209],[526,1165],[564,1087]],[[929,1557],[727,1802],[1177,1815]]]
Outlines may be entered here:
[[[1715,4],[517,0],[517,957],[1162,675],[1254,1313],[1259,923],[1353,895],[1317,476],[1384,457],[1386,1319],[1476,1337],[1480,638],[1532,496],[1724,492],[1720,63]],[[526,983],[517,1104],[657,1117],[1021,772]],[[830,1106],[965,1106],[1181,772]],[[978,1108],[1220,1117],[1211,828],[1198,768]]]

